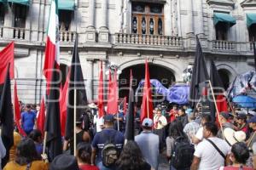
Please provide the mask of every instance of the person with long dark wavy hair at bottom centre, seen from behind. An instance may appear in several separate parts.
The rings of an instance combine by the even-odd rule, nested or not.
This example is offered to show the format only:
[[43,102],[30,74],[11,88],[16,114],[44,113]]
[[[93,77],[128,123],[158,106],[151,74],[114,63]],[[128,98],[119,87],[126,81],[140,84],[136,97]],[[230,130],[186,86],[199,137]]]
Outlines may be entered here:
[[143,153],[136,142],[128,140],[116,161],[117,170],[150,170],[151,167],[143,158]]

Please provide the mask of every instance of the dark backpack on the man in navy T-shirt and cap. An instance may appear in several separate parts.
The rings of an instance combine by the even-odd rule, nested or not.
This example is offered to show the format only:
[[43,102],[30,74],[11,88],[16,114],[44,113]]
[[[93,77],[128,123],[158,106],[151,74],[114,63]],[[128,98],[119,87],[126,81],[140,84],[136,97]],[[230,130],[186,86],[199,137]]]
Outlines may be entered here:
[[108,139],[102,149],[102,164],[105,167],[112,167],[115,164],[115,161],[117,161],[119,158],[119,150],[117,150],[114,144],[114,137],[117,134],[117,131],[115,131],[113,136],[110,137],[107,137],[107,135],[103,132],[102,134],[104,137],[106,137],[106,139]]

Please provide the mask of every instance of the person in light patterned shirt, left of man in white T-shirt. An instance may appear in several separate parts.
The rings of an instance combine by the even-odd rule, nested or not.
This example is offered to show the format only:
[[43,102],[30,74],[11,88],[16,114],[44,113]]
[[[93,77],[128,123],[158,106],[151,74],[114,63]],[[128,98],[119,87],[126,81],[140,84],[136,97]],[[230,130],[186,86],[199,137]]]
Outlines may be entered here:
[[[189,112],[187,114],[189,114]],[[190,115],[188,116],[189,116],[189,123],[185,125],[185,127],[183,128],[183,132],[187,134],[189,141],[192,144],[191,137],[195,136],[196,132],[200,128],[200,124],[195,122],[195,116],[193,113],[190,113]]]

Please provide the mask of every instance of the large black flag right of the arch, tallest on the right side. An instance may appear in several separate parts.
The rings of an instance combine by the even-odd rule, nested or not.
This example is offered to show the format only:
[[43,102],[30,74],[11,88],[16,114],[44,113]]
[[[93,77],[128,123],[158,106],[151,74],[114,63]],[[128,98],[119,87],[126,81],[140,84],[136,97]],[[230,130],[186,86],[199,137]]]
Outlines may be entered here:
[[195,108],[196,103],[200,99],[200,83],[205,82],[207,80],[209,80],[209,75],[207,72],[206,61],[201,50],[201,44],[199,42],[199,39],[198,37],[196,37],[195,61],[189,92],[189,99],[192,108]]

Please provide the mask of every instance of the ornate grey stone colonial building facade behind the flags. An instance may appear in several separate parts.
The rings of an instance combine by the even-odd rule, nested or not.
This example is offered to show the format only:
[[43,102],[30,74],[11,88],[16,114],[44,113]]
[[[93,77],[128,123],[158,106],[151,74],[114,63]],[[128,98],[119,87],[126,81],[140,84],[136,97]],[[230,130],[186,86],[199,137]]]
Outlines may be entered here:
[[[50,0],[0,0],[0,47],[15,41],[15,78],[25,102],[45,94],[42,75]],[[59,0],[61,71],[65,81],[78,33],[88,99],[96,99],[100,61],[119,69],[119,88],[150,77],[169,87],[193,65],[195,35],[207,65],[214,59],[226,87],[253,69],[256,0]],[[113,64],[114,63],[114,64]],[[105,79],[107,79],[105,75]],[[135,86],[136,88],[136,86]],[[127,90],[120,90],[124,97]]]

